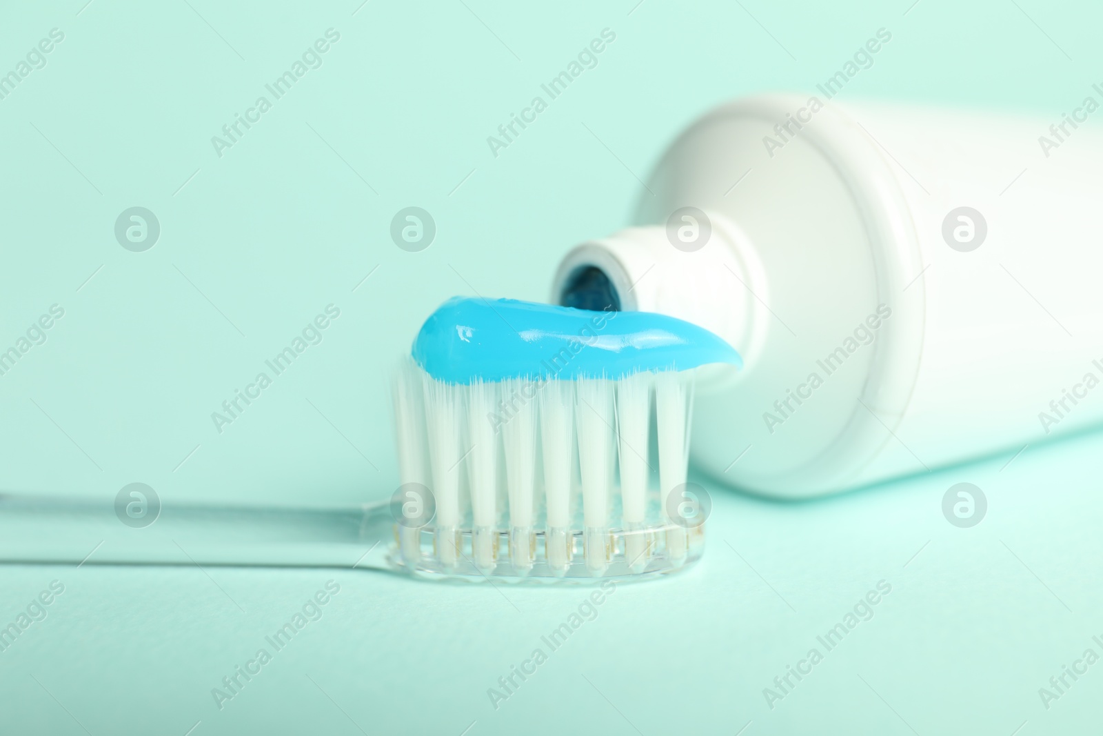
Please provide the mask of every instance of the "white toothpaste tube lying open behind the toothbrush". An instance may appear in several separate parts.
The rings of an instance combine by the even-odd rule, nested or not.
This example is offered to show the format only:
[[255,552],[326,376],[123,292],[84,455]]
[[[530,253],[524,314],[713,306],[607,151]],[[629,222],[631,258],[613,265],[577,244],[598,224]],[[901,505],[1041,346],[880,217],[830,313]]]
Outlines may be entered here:
[[[638,226],[567,255],[553,298],[596,267],[622,309],[742,353],[698,384],[690,448],[736,487],[817,495],[1014,452],[1103,420],[1103,136],[1069,128],[1045,151],[1049,128],[736,102],[673,143]],[[710,224],[699,249],[667,234],[686,206]]]

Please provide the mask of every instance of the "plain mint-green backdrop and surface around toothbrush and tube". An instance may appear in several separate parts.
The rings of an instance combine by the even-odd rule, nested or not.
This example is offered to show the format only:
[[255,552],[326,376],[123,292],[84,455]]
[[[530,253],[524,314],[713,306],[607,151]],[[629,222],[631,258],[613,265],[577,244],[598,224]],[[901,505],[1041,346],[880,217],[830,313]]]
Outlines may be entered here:
[[[0,376],[0,486],[105,503],[135,481],[165,504],[386,497],[388,376],[440,301],[546,297],[566,248],[625,223],[681,128],[737,95],[811,90],[881,26],[891,43],[840,96],[1058,119],[1100,82],[1103,13],[1016,1],[6,8],[0,72],[52,28],[65,40],[0,99],[0,345],[52,303],[65,317]],[[218,158],[211,137],[329,28],[323,65]],[[604,28],[599,65],[494,158],[486,137]],[[409,205],[437,223],[422,253],[389,239]],[[161,224],[144,253],[115,241],[130,206]],[[218,434],[211,413],[329,303],[324,341]],[[3,621],[52,579],[66,590],[0,653],[0,730],[1097,728],[1103,664],[1049,711],[1037,691],[1103,638],[1099,448],[1086,436],[803,504],[710,486],[704,562],[618,588],[497,711],[486,689],[582,590],[6,566]],[[971,530],[941,516],[959,481],[989,499]],[[322,619],[218,711],[211,689],[331,577]],[[769,710],[762,689],[880,579],[892,593],[874,619]]]

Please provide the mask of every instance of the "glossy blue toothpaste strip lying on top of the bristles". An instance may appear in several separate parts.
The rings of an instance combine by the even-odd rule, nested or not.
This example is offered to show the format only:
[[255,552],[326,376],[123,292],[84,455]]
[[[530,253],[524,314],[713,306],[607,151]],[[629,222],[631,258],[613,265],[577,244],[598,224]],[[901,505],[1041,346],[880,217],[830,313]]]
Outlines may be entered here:
[[449,299],[426,320],[413,355],[433,378],[453,384],[615,380],[642,371],[743,363],[719,337],[666,314],[465,297]]

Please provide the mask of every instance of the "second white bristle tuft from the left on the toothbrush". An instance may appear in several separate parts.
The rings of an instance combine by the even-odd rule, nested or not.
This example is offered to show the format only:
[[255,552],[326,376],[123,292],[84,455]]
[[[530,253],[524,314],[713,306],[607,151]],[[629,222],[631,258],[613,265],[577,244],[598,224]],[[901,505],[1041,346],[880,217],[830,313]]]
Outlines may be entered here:
[[460,414],[461,386],[425,376],[426,426],[429,436],[429,467],[437,500],[437,555],[454,566],[460,550]]

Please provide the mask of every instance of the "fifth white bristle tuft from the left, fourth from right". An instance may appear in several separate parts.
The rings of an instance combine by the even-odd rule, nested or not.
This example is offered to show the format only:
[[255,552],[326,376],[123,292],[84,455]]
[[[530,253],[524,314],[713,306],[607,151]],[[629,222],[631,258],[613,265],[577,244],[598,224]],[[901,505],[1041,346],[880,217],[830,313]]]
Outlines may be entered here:
[[547,497],[548,565],[556,574],[570,563],[571,458],[575,449],[575,383],[552,378],[540,390],[540,444]]

